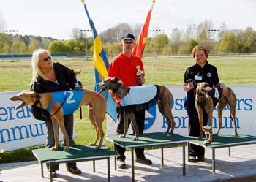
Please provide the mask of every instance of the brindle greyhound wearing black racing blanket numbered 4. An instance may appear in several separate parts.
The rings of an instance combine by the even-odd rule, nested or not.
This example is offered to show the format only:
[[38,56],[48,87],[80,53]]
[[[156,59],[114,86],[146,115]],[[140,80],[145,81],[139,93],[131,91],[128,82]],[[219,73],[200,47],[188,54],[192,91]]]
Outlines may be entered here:
[[[222,127],[222,112],[226,105],[230,105],[230,118],[233,121],[235,127],[235,135],[238,134],[236,129],[236,94],[227,87],[227,94],[222,94],[222,88],[217,86],[216,88],[211,88],[208,83],[202,82],[197,83],[197,88],[195,91],[195,107],[197,109],[198,118],[200,122],[200,136],[199,140],[203,138],[203,132],[208,133],[208,139],[204,142],[205,144],[211,143],[212,140],[212,117],[214,107],[217,106],[218,118],[219,118],[219,128],[217,134]],[[208,115],[210,126],[203,127],[203,110],[206,110]]]

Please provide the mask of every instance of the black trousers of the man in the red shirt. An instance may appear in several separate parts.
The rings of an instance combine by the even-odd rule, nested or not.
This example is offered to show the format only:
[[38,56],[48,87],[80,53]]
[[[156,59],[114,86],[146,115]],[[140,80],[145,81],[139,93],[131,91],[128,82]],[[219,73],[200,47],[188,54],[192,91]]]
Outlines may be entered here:
[[[116,129],[117,134],[122,134],[124,133],[124,115],[118,113],[117,114],[117,118],[118,118],[118,126]],[[145,110],[139,110],[139,111],[135,111],[135,119],[136,119],[136,123],[138,125],[138,129],[139,129],[139,134],[143,133],[144,130],[144,123],[145,123]],[[129,119],[129,124],[131,124],[131,121]],[[114,145],[114,147],[116,148],[116,152],[118,153],[117,159],[124,161],[125,160],[125,148],[119,146],[119,145]],[[141,159],[144,158],[144,148],[136,148],[135,149],[135,153],[136,153],[136,158],[137,159]]]

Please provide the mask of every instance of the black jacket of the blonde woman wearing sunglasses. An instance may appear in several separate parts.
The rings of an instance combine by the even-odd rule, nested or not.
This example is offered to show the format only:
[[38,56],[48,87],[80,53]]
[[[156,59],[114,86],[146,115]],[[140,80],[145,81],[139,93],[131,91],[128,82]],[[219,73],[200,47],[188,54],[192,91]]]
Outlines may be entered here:
[[[75,88],[76,78],[71,69],[60,63],[53,63],[53,68],[59,84],[54,83],[53,81],[44,80],[39,76],[31,86],[30,90],[41,94],[45,92],[64,91]],[[47,110],[41,110],[39,107],[34,105],[31,107],[31,112],[34,115],[34,118],[42,121],[47,121],[50,118],[50,114]]]

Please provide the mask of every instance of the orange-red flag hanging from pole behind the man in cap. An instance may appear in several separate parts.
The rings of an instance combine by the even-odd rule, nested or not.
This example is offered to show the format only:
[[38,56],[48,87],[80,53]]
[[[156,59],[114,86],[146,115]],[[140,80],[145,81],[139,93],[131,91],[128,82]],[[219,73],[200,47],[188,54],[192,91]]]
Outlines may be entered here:
[[139,35],[138,39],[136,40],[135,48],[133,48],[133,50],[132,50],[132,55],[137,56],[139,58],[142,58],[143,51],[144,51],[144,48],[146,45],[146,37],[148,37],[148,27],[149,27],[150,18],[151,18],[151,12],[154,7],[154,2],[155,1],[153,0],[153,4],[151,6],[151,9],[148,12],[146,22],[144,23],[144,25],[140,31],[140,35]]

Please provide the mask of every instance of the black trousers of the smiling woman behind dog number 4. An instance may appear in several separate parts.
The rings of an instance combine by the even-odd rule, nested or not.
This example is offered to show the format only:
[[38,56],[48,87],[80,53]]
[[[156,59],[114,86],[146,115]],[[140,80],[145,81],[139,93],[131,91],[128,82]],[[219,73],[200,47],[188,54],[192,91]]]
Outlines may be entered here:
[[[199,137],[200,124],[198,119],[198,113],[195,108],[195,96],[188,96],[185,106],[187,107],[187,115],[189,118],[189,136]],[[208,115],[206,111],[203,111],[203,126],[207,125]],[[205,148],[199,145],[189,143],[189,155],[204,156]]]

